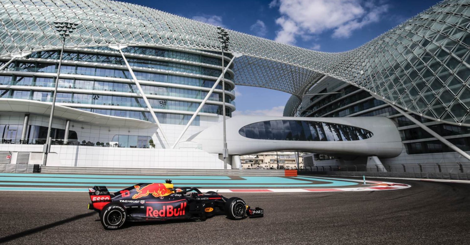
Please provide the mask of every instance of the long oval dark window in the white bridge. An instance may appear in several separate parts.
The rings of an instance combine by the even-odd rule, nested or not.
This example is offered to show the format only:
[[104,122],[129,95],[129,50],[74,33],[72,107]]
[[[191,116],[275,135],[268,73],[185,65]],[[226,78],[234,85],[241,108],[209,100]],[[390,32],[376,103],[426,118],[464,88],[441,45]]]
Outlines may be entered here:
[[250,139],[285,141],[357,141],[372,137],[370,131],[358,127],[301,120],[252,123],[238,133]]

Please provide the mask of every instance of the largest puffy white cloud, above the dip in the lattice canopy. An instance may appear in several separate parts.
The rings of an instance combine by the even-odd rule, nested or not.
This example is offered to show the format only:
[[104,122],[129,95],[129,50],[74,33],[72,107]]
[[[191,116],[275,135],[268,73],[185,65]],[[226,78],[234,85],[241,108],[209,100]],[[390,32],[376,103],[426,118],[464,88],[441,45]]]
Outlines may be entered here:
[[333,30],[332,37],[347,38],[354,30],[379,21],[388,11],[386,4],[370,0],[276,0],[269,6],[279,6],[281,17],[276,24],[276,41],[293,44],[297,37],[318,35]]

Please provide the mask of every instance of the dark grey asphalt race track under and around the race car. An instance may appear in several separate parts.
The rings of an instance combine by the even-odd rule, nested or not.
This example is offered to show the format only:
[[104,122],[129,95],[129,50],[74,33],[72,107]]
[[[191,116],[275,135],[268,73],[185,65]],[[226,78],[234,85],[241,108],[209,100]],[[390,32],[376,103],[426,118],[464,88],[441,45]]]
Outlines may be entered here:
[[[384,179],[383,181],[392,181]],[[395,181],[403,190],[226,193],[265,217],[130,223],[107,231],[86,209],[86,192],[0,191],[5,244],[469,244],[470,184]]]

